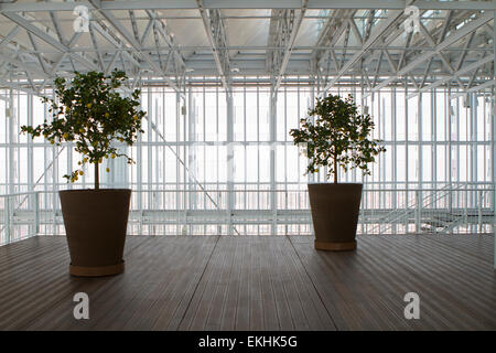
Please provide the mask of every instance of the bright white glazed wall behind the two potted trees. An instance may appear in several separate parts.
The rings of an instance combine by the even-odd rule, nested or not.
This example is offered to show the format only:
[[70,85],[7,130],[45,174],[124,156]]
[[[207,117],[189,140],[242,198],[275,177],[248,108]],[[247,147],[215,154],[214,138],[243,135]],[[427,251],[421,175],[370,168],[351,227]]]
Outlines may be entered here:
[[[324,181],[327,172],[322,169],[306,175],[306,159],[289,136],[319,93],[304,78],[282,85],[274,99],[269,86],[252,84],[257,77],[246,77],[246,84],[237,84],[230,94],[212,81],[188,85],[181,94],[164,86],[143,85],[145,132],[129,150],[137,163],[127,168],[118,159],[105,161],[103,170],[110,167],[111,171],[103,172],[103,184],[131,188],[136,191],[134,210],[170,211],[175,224],[171,221],[147,231],[140,223],[136,232],[310,232],[308,218],[289,222],[282,229],[277,223],[283,211],[291,211],[285,216],[296,220],[298,211],[308,210],[306,183]],[[416,95],[405,88],[387,88],[367,95],[359,87],[331,93],[353,95],[373,116],[374,137],[387,149],[371,165],[371,175],[341,171],[341,181],[364,182],[366,190],[406,191],[492,182],[488,94],[457,95],[435,89]],[[33,141],[20,135],[22,125],[50,120],[40,98],[17,90],[0,95],[4,97],[0,99],[0,193],[52,191],[44,195],[44,205],[51,207],[58,202],[53,191],[91,188],[91,168],[75,184],[62,178],[80,159],[71,145],[54,147],[43,138]],[[395,195],[364,200],[363,206],[374,208],[376,202],[398,207],[408,201]],[[222,224],[211,225],[207,221],[212,216],[203,213],[204,222],[184,228],[185,222],[180,218],[191,216],[187,212],[194,215],[195,210],[237,212],[242,214],[242,222],[238,220],[239,224],[233,226],[236,220],[229,216]],[[263,220],[259,217],[262,211]],[[360,232],[366,232],[365,225],[362,227]]]

